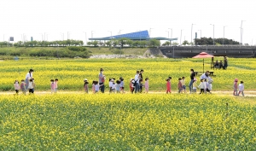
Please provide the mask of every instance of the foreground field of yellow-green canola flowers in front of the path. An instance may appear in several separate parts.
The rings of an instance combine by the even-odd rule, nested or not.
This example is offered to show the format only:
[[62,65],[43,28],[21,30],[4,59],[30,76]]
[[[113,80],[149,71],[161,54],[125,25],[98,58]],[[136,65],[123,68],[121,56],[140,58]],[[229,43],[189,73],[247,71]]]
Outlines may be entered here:
[[230,96],[1,96],[0,111],[0,150],[256,147],[256,107]]

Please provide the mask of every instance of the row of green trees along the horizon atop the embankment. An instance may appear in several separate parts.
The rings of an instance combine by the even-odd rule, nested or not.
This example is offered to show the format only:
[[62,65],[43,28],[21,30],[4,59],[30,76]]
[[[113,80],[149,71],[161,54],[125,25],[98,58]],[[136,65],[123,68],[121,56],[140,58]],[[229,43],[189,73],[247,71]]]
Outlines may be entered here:
[[[214,38],[214,45],[236,45],[240,44],[233,39],[228,38]],[[17,43],[0,42],[0,47],[3,46],[15,46],[15,47],[49,47],[49,46],[83,46],[82,40],[67,39],[62,41],[18,41]],[[166,41],[163,46],[178,45],[177,42]],[[182,45],[213,45],[213,38],[195,38],[194,42],[184,40]],[[248,44],[245,44],[248,45]],[[151,38],[149,40],[131,40],[129,38],[116,38],[105,41],[90,41],[87,42],[87,46],[94,47],[158,47],[160,46],[160,40]]]

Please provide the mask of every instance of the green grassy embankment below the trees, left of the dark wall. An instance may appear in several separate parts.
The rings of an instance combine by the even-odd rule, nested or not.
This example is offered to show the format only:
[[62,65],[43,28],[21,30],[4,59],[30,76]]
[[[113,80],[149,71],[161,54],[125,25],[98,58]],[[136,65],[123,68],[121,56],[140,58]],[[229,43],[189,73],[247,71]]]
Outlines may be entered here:
[[[113,55],[120,54],[119,48],[107,47],[85,47],[91,55]],[[124,55],[143,55],[148,48],[122,48]],[[0,59],[13,60],[15,56],[21,59],[28,58],[73,58],[84,57],[83,52],[76,52],[67,49],[67,47],[2,47],[0,48]]]

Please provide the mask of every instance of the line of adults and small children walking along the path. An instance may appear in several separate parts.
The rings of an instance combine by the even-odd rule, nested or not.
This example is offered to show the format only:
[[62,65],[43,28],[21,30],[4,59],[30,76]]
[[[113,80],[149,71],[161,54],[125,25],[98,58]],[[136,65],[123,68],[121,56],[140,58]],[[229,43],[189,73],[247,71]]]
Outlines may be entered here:
[[[92,81],[92,92],[98,93],[98,92],[105,92],[105,83],[106,83],[106,77],[103,74],[104,70],[103,68],[100,69],[99,73],[99,80]],[[149,91],[149,79],[145,78],[143,80],[143,72],[144,70],[137,70],[136,75],[134,78],[130,79],[130,91],[131,93],[142,93],[143,89],[146,93]],[[28,90],[30,94],[34,93],[35,89],[35,81],[34,78],[32,78],[33,69],[30,69],[28,73],[26,73],[26,79],[22,79],[21,83],[19,83],[18,80],[15,80],[15,92],[16,94],[19,93],[19,90],[22,90],[22,93],[26,95],[26,91]],[[206,73],[203,73],[200,77],[200,84],[197,84],[197,79],[195,77],[194,69],[190,69],[190,81],[189,81],[189,93],[196,93],[197,89],[200,89],[200,94],[204,93],[211,93],[212,90],[212,82],[213,79],[210,77],[209,71]],[[236,78],[234,81],[234,96],[239,96],[240,94],[244,96],[243,90],[244,85],[243,81],[241,81],[241,84],[237,84],[238,79]],[[115,80],[115,78],[109,78],[108,81],[109,86],[109,93],[124,93],[125,92],[125,79],[122,77],[119,77],[119,79]],[[58,78],[51,79],[50,80],[50,90],[51,93],[56,93],[58,88]],[[239,90],[239,92],[238,92]],[[84,91],[86,93],[89,93],[89,81],[87,78],[84,78]],[[166,78],[166,93],[172,92],[172,77]],[[178,78],[177,81],[177,92],[178,93],[186,93],[186,84],[185,84],[185,77]]]

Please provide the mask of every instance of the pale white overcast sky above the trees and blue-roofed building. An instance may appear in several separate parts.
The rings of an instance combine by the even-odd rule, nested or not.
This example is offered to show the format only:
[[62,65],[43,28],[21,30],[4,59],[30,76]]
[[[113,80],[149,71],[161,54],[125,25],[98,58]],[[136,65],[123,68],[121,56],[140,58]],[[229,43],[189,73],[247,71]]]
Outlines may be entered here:
[[[0,41],[83,40],[150,31],[150,37],[229,38],[256,45],[254,0],[1,0]],[[193,28],[192,28],[192,24]],[[214,25],[214,32],[213,26]],[[224,27],[225,26],[225,27]]]

